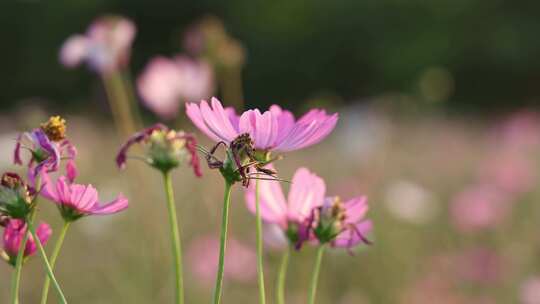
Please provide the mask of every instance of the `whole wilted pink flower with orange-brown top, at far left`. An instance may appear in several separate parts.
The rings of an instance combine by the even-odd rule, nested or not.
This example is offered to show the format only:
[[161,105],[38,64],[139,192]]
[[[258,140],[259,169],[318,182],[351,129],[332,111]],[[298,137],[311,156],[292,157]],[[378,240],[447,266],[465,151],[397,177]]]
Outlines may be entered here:
[[61,159],[67,159],[68,177],[73,180],[77,175],[74,163],[77,150],[66,138],[66,121],[60,116],[52,116],[40,128],[19,135],[14,150],[15,164],[23,164],[22,149],[31,153],[28,161],[28,167],[33,169],[29,172],[31,177],[43,168],[47,172],[57,171]]

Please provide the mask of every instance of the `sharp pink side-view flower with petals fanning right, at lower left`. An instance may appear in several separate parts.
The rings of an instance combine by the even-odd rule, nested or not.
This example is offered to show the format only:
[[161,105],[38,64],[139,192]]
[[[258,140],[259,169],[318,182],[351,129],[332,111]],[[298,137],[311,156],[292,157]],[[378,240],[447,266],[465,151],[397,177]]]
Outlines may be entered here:
[[70,183],[60,176],[53,181],[47,173],[42,174],[41,195],[58,205],[66,221],[74,221],[87,215],[106,215],[120,212],[128,207],[128,200],[122,194],[110,203],[99,202],[98,192],[92,185]]

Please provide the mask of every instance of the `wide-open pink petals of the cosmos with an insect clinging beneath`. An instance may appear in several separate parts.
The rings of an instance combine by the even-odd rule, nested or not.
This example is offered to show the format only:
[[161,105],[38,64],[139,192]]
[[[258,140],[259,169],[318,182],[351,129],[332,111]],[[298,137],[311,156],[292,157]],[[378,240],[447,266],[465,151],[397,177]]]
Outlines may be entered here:
[[229,145],[239,135],[248,133],[254,148],[265,151],[287,152],[302,149],[323,140],[336,126],[338,114],[314,109],[300,119],[273,105],[261,113],[248,110],[238,116],[233,108],[223,108],[217,98],[211,107],[205,100],[200,104],[187,103],[186,113],[204,134],[216,142]]

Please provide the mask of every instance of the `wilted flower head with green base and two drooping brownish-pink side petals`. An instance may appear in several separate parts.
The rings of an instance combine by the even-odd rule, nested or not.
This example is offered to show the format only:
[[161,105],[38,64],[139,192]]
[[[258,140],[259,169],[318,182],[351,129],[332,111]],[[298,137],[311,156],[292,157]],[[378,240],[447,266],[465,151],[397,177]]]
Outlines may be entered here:
[[162,124],[137,132],[126,141],[116,156],[116,164],[120,169],[126,166],[127,152],[136,143],[143,143],[147,147],[144,159],[150,166],[167,172],[178,167],[187,157],[195,175],[202,176],[197,141],[193,135],[170,130]]

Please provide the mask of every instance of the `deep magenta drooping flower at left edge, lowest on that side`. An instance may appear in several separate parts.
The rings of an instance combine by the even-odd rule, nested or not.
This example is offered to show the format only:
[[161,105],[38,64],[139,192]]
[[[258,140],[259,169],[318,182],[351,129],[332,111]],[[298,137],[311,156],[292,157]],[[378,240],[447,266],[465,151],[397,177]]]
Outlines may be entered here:
[[[27,225],[23,220],[10,219],[4,229],[4,252],[7,255],[7,260],[10,264],[15,265],[17,260],[17,254],[19,247],[27,231]],[[47,223],[41,223],[36,230],[36,234],[42,244],[47,243],[49,237],[52,234],[51,227]],[[24,249],[24,256],[30,256],[36,252],[36,242],[30,235],[26,247]]]

